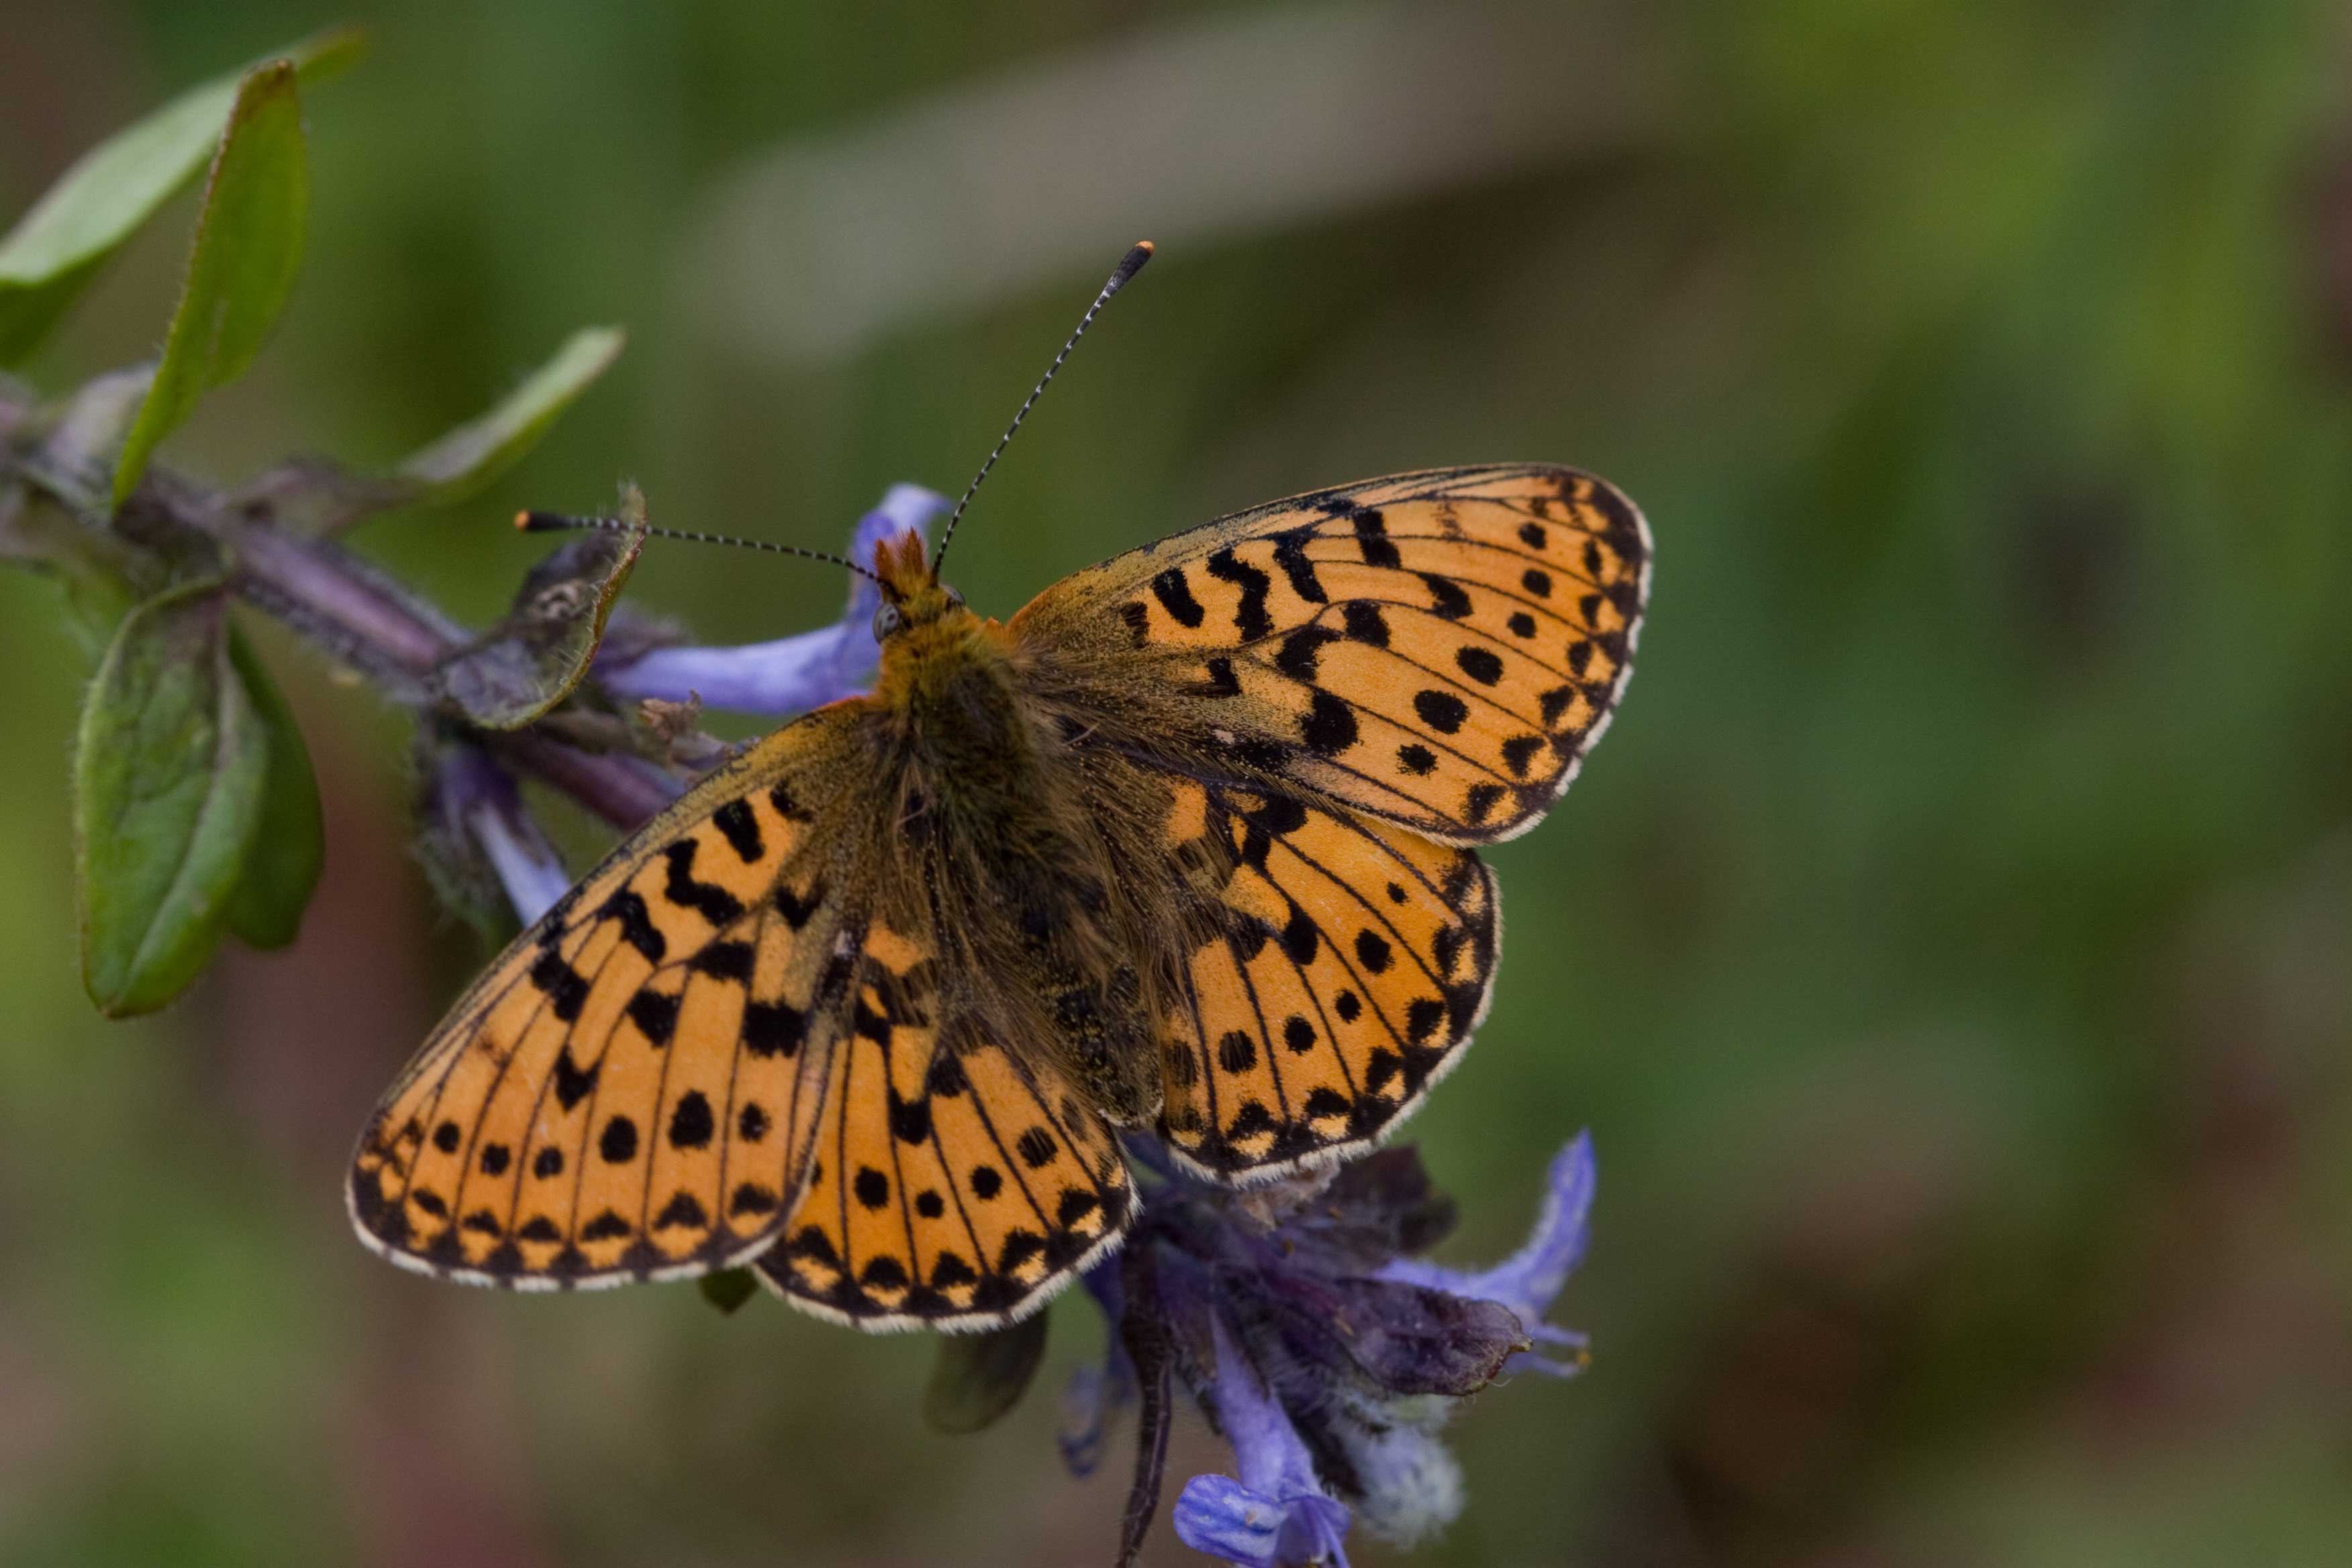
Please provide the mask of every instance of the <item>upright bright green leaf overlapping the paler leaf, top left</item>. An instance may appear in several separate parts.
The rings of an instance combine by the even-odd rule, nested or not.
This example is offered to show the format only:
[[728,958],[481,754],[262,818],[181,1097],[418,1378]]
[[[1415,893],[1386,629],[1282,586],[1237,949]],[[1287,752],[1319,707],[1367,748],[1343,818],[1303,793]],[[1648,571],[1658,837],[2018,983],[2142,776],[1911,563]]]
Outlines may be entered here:
[[261,353],[301,268],[310,212],[310,162],[301,139],[294,63],[254,66],[221,132],[195,221],[188,284],[139,418],[115,461],[115,505],[139,489],[155,444],[186,423],[198,400],[245,374]]

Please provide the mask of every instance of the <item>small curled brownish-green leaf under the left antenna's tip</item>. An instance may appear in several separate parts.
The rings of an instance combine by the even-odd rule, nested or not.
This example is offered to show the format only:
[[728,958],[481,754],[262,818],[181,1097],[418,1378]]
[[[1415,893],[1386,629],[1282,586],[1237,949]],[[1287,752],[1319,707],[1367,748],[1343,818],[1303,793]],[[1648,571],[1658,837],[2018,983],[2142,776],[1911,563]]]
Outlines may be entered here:
[[644,496],[626,491],[628,534],[588,534],[532,567],[515,609],[435,672],[440,696],[485,729],[546,717],[588,677],[604,618],[644,548]]

